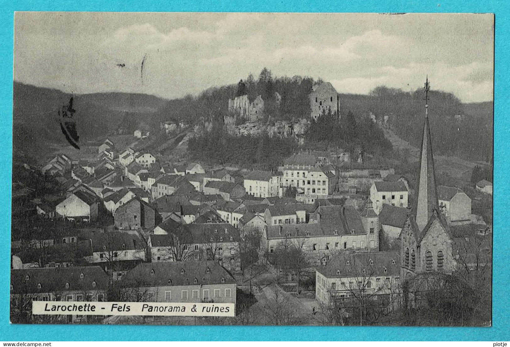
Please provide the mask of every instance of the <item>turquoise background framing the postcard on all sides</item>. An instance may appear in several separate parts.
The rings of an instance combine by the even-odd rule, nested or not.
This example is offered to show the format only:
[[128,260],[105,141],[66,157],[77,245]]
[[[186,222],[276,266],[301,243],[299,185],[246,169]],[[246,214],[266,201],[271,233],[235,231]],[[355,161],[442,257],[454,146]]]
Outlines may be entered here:
[[[58,340],[510,340],[510,265],[507,211],[510,120],[506,115],[509,76],[510,1],[0,1],[0,341]],[[14,11],[200,11],[200,12],[483,12],[496,14],[494,98],[494,276],[493,327],[195,327],[11,325],[9,323],[10,206],[12,162],[12,59]],[[462,52],[459,52],[462,54]],[[475,139],[473,139],[475,140]]]

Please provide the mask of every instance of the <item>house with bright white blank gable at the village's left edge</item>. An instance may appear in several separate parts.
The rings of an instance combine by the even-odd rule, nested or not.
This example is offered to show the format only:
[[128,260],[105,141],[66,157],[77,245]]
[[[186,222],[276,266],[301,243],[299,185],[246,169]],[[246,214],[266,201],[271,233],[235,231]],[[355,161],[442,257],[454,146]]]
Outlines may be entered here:
[[55,211],[69,220],[92,221],[97,219],[97,201],[83,191],[76,191],[58,204]]

